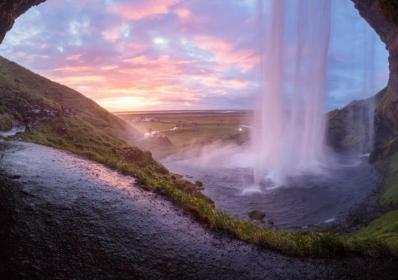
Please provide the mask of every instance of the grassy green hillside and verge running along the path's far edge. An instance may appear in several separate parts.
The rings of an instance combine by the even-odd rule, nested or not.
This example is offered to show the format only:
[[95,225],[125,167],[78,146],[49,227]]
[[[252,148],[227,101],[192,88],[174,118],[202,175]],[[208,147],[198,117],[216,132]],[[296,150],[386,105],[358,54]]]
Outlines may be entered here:
[[[129,146],[122,139],[126,136],[124,130],[129,129],[123,121],[76,91],[2,58],[0,97],[2,113],[11,114],[14,118],[32,104],[60,112],[25,133],[24,140],[63,149],[135,176],[145,188],[166,196],[212,229],[290,255],[336,256],[358,250],[378,252],[380,248],[383,251],[379,253],[386,252],[376,242],[347,240],[326,232],[274,231],[225,214],[216,209],[197,186],[170,174],[153,160],[149,152]],[[73,113],[62,113],[65,108],[73,110]]]

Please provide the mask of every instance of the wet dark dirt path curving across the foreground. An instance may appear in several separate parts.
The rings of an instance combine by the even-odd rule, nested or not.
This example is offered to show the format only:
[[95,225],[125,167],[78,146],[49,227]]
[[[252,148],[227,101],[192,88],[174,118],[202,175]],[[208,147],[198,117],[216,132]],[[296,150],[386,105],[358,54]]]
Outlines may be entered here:
[[34,144],[0,146],[4,279],[395,277],[394,261],[297,259],[259,250],[203,228],[102,165]]

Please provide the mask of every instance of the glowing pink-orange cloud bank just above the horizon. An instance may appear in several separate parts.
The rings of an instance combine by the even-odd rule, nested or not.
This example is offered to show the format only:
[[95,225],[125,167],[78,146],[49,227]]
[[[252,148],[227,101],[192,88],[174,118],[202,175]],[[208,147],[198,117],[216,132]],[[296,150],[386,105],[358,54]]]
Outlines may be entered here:
[[221,79],[217,73],[202,71],[201,67],[198,61],[190,59],[139,55],[125,58],[117,65],[64,65],[50,77],[87,96],[95,96],[112,111],[125,110],[123,101],[127,100],[137,101],[133,107],[141,109],[173,103],[197,104],[202,95],[224,95],[229,89],[241,90],[249,85],[243,79]]

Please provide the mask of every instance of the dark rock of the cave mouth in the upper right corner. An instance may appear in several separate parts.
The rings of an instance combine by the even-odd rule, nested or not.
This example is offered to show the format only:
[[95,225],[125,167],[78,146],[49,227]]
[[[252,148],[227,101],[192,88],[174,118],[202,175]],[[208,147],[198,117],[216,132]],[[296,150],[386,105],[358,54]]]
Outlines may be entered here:
[[398,0],[352,0],[360,15],[379,34],[389,53],[388,94],[382,102],[384,118],[398,128]]

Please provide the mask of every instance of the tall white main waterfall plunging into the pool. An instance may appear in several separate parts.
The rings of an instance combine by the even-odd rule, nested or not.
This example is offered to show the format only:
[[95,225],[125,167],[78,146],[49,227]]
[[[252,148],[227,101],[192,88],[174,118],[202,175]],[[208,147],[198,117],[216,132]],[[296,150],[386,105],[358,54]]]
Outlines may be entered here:
[[[280,185],[288,176],[317,171],[324,159],[331,4],[330,0],[270,2],[264,32],[264,1],[258,0],[257,24],[264,41],[252,148],[255,183],[268,178]],[[291,19],[289,8],[296,11],[293,32],[285,25]]]

